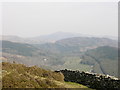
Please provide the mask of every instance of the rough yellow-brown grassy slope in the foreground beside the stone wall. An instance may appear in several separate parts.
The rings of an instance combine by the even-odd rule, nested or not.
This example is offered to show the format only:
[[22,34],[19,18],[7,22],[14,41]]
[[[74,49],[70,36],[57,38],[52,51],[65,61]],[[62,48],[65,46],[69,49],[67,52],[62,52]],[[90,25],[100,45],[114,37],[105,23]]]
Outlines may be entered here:
[[3,88],[87,88],[81,84],[66,83],[62,73],[44,70],[36,66],[2,63]]

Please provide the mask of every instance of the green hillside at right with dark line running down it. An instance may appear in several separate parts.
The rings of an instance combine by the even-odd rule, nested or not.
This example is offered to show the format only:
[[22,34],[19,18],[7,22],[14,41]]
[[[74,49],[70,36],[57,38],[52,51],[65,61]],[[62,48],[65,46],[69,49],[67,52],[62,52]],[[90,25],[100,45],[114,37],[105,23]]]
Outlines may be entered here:
[[118,76],[118,48],[102,46],[88,50],[81,64],[93,66],[93,72]]

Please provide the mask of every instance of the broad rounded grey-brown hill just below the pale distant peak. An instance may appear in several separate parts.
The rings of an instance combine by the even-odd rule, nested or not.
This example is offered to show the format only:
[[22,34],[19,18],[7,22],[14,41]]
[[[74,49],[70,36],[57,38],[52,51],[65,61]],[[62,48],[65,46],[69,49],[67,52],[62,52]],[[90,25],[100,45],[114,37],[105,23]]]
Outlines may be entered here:
[[73,37],[56,41],[57,44],[63,46],[79,47],[81,49],[92,49],[99,46],[117,47],[118,43],[115,40],[108,38],[97,37]]

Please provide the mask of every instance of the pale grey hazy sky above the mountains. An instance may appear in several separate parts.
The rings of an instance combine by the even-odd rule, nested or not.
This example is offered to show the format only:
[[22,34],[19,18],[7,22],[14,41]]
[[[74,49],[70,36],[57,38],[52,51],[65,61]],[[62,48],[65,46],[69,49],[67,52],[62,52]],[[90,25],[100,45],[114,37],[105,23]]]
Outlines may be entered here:
[[3,35],[118,34],[117,2],[6,2],[2,15]]

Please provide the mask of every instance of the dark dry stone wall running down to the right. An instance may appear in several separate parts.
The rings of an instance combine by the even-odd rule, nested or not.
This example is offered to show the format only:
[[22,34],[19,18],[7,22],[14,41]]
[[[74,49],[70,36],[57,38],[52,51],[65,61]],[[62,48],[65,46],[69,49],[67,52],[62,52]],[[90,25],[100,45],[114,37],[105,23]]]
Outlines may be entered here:
[[67,69],[56,72],[63,73],[64,80],[67,82],[76,82],[79,84],[86,85],[93,89],[120,88],[120,80],[116,78],[111,78],[110,76],[91,74],[80,71],[71,71]]

